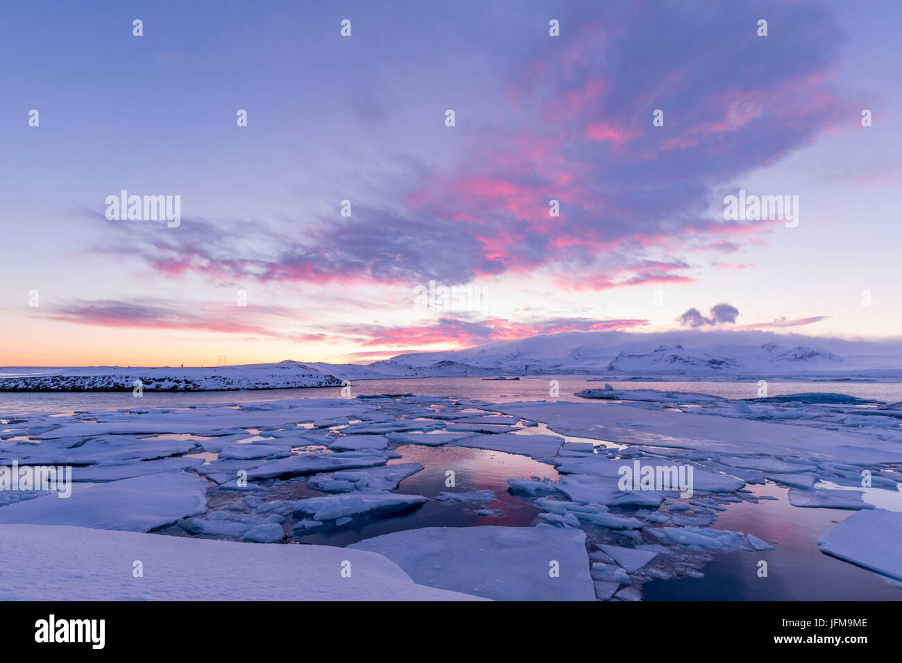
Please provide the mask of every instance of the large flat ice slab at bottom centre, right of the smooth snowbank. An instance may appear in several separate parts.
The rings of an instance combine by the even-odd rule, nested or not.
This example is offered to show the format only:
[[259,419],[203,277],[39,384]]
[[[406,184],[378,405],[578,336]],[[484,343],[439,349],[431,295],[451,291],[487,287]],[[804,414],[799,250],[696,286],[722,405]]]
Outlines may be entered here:
[[[500,601],[595,600],[581,529],[428,527],[345,549],[380,553],[416,583]],[[559,565],[559,577],[549,574],[552,561]]]

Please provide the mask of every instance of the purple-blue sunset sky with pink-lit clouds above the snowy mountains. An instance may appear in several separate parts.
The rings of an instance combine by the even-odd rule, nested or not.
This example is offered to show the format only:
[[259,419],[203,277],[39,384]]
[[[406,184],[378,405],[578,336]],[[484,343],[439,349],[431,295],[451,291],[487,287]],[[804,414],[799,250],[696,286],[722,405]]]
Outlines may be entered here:
[[[897,2],[0,13],[2,365],[899,336]],[[178,225],[109,218],[123,189]]]

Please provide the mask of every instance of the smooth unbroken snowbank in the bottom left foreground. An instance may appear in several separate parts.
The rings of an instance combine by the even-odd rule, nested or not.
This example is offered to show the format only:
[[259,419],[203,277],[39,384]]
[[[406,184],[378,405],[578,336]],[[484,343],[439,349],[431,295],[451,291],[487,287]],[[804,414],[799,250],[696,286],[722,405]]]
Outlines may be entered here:
[[[121,571],[136,550],[153,569],[140,582]],[[345,560],[348,577],[336,570]],[[0,526],[0,567],[0,600],[8,601],[480,600],[417,585],[396,564],[363,550],[75,527]]]

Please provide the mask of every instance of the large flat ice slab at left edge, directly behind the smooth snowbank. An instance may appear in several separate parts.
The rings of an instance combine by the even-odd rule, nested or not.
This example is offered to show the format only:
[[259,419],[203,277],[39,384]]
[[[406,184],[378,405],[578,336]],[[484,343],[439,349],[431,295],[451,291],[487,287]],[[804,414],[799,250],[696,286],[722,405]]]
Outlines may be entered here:
[[0,508],[0,524],[75,525],[149,531],[207,511],[207,480],[185,472],[145,474]]

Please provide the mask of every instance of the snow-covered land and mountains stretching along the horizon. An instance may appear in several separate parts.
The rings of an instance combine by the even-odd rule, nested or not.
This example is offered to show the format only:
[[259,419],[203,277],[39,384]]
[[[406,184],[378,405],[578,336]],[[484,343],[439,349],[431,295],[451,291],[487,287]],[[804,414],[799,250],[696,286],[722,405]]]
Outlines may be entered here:
[[373,364],[286,360],[211,368],[0,369],[0,391],[220,391],[336,387],[359,380],[579,374],[612,379],[902,380],[902,344],[770,332],[565,332]]

